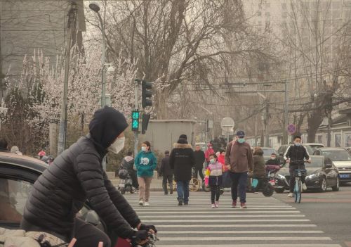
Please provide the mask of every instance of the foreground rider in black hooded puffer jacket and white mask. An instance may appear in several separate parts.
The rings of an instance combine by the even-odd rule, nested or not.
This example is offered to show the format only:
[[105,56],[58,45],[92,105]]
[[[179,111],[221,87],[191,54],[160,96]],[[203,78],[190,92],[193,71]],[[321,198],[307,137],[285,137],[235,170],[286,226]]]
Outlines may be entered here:
[[147,241],[147,231],[156,229],[141,224],[102,169],[107,152],[119,153],[124,147],[126,127],[126,118],[118,110],[107,106],[97,110],[89,124],[90,133],[55,158],[34,183],[25,205],[22,229],[48,232],[67,242],[74,237],[75,247],[95,247],[100,241],[110,246],[104,232],[76,217],[88,200],[117,236]]

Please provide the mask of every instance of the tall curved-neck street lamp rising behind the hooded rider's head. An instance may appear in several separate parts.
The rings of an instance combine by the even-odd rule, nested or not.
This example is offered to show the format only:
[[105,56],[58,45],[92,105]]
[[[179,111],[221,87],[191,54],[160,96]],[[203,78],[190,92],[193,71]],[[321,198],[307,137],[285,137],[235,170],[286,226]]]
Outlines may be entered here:
[[102,63],[102,82],[101,82],[101,108],[106,106],[106,70],[105,70],[105,61],[106,61],[106,34],[105,34],[105,25],[102,21],[101,15],[99,13],[100,6],[95,3],[89,4],[89,8],[98,14],[98,18],[100,20],[101,25],[101,33],[102,33],[102,55],[101,55],[101,63]]

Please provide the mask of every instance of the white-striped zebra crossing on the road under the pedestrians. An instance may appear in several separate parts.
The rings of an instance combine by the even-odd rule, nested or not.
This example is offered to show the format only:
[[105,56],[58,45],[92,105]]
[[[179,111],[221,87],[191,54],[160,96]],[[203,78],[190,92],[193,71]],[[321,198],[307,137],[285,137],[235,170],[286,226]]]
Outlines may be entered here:
[[338,247],[292,205],[262,194],[247,195],[247,209],[231,208],[230,192],[220,197],[220,208],[210,208],[210,194],[190,193],[189,205],[178,206],[176,194],[152,192],[150,206],[127,200],[146,224],[159,230],[157,247]]

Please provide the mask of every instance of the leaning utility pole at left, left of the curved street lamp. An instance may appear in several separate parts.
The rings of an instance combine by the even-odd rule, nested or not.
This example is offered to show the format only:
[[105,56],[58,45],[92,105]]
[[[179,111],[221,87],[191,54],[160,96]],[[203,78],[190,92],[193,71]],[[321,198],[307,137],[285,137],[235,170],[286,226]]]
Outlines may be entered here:
[[58,155],[65,150],[67,135],[67,88],[69,75],[69,57],[71,55],[72,32],[74,30],[77,5],[70,1],[70,8],[67,20],[67,40],[65,51],[65,82],[63,83],[63,95],[61,104],[60,129],[58,134]]

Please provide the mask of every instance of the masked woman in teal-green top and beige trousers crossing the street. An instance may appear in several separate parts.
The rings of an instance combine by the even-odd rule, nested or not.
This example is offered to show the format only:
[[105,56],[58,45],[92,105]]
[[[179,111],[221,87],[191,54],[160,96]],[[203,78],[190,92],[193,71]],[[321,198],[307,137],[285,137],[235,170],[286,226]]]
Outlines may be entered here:
[[149,141],[144,141],[141,144],[141,151],[135,158],[135,167],[139,183],[139,205],[150,205],[150,186],[154,170],[157,166],[157,158],[151,151]]

